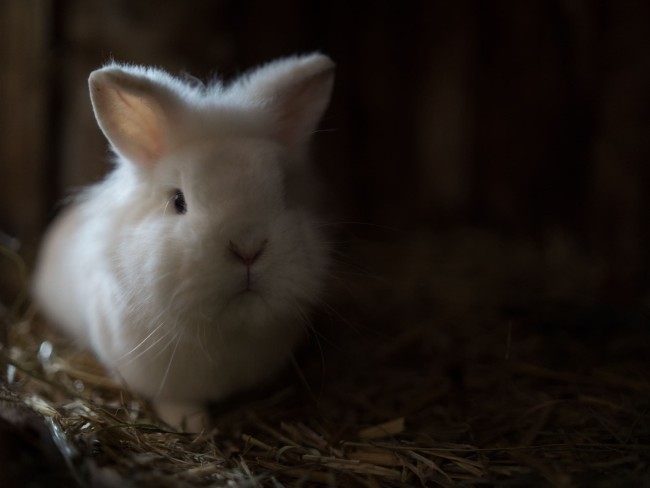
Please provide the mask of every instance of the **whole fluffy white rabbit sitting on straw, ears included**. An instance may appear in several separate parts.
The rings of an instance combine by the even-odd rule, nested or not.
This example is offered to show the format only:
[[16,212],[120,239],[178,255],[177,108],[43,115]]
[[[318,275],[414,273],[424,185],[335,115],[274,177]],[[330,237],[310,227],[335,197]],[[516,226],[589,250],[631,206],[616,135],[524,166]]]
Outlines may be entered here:
[[276,373],[319,300],[327,250],[304,186],[333,72],[312,54],[208,86],[90,75],[116,164],[48,231],[34,296],[171,425]]

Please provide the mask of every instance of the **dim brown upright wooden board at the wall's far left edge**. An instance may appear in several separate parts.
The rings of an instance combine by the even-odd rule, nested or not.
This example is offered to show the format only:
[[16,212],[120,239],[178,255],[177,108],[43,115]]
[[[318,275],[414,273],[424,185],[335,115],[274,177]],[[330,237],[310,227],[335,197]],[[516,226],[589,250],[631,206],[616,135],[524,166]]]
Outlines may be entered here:
[[50,22],[47,0],[0,2],[0,319],[25,286],[7,252],[33,248],[51,191]]

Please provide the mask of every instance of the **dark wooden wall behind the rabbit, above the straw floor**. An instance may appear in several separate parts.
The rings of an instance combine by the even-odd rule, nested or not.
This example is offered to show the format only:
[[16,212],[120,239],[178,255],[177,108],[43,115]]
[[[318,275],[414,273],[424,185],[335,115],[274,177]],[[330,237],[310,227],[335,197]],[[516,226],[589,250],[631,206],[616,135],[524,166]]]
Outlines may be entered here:
[[[314,151],[335,222],[541,256],[561,240],[604,270],[600,300],[646,301],[649,2],[8,0],[0,36],[0,231],[28,264],[56,202],[106,170],[90,71],[230,77],[319,50],[338,66]],[[5,303],[16,269],[0,257]]]

